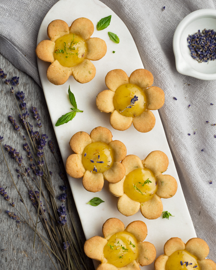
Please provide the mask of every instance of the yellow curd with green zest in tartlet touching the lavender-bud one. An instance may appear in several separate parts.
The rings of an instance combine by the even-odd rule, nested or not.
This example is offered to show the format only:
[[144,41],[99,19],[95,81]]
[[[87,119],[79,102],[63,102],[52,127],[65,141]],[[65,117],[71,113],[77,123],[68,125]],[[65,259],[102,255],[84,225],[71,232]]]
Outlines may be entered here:
[[134,201],[150,200],[158,189],[157,181],[149,169],[136,169],[130,172],[124,181],[124,193]]

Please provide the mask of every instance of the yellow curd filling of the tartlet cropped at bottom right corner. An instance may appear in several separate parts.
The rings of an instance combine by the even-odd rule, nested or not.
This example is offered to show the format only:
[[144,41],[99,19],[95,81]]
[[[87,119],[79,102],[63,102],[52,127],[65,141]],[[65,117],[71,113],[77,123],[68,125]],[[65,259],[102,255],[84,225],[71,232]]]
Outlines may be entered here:
[[167,262],[166,270],[199,270],[197,258],[186,250],[177,250],[172,253]]

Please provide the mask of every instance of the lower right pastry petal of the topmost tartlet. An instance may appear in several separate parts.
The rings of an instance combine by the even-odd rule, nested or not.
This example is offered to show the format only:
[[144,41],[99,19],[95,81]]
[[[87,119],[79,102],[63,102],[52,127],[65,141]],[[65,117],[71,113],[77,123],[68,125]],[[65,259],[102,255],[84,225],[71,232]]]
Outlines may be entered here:
[[84,59],[82,63],[71,68],[74,79],[80,83],[91,81],[95,74],[95,66],[88,59]]

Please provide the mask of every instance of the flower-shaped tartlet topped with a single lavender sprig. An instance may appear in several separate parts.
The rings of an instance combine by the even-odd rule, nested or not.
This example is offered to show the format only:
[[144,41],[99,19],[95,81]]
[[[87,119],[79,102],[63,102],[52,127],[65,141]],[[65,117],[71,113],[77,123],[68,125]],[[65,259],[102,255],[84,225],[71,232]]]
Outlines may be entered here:
[[96,105],[100,111],[112,112],[110,123],[118,130],[128,129],[132,122],[140,132],[148,132],[155,125],[157,110],[164,104],[164,92],[152,86],[153,75],[146,69],[137,69],[130,78],[121,69],[111,70],[105,77],[109,90],[100,92]]

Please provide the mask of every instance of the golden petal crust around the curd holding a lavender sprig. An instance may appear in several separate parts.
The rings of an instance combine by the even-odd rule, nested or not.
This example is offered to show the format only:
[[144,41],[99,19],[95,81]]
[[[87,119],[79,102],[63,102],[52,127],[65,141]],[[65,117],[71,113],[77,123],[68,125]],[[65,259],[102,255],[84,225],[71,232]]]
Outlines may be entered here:
[[[111,112],[110,123],[117,130],[126,130],[133,122],[138,131],[149,132],[155,126],[155,116],[150,109],[159,109],[164,104],[163,90],[157,86],[150,87],[153,80],[152,73],[146,69],[135,70],[130,78],[122,69],[111,70],[105,77],[105,84],[110,90],[104,90],[97,95],[96,106],[101,112]],[[138,116],[125,116],[114,106],[115,91],[127,83],[141,87],[147,97],[146,109]]]

